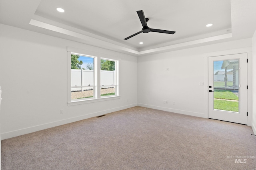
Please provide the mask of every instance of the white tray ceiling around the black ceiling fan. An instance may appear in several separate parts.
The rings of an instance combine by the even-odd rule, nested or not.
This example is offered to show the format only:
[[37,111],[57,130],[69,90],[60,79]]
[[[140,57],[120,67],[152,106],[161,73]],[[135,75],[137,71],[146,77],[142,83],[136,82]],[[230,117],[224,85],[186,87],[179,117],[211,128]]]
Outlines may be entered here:
[[[255,7],[255,0],[0,0],[0,23],[139,56],[250,38]],[[176,33],[124,40],[142,29],[137,10],[150,28]]]

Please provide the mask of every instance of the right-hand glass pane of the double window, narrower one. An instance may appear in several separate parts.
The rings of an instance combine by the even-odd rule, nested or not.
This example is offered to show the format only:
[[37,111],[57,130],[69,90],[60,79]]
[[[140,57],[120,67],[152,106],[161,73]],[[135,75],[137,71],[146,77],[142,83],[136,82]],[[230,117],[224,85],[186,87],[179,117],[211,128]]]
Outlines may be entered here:
[[116,95],[116,61],[100,60],[100,96]]

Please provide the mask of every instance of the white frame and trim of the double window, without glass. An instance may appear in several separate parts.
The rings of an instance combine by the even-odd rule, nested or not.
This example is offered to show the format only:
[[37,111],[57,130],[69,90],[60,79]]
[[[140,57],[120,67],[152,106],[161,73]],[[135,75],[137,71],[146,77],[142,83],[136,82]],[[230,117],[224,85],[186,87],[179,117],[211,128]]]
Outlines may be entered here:
[[[106,100],[119,99],[119,61],[115,56],[109,56],[106,54],[86,51],[82,49],[76,49],[73,47],[67,47],[68,51],[68,106],[78,105],[78,104],[88,104],[93,102],[101,102]],[[71,99],[71,54],[81,55],[84,57],[94,58],[94,96],[93,98],[82,98],[82,99]],[[115,95],[101,96],[101,84],[100,84],[100,61],[101,59],[115,61]],[[79,86],[80,87],[80,86]]]

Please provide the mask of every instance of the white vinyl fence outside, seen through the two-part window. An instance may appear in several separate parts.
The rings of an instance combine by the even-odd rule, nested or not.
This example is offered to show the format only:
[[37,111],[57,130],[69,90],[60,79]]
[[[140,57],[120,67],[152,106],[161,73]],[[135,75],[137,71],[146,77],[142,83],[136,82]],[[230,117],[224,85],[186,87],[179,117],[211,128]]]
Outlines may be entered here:
[[[111,86],[115,82],[115,71],[100,70],[100,85],[101,86]],[[83,70],[83,69],[71,69],[71,87],[74,86],[94,86],[94,71],[93,70]],[[71,88],[71,92],[81,91],[81,90],[92,90],[90,87],[83,88]]]

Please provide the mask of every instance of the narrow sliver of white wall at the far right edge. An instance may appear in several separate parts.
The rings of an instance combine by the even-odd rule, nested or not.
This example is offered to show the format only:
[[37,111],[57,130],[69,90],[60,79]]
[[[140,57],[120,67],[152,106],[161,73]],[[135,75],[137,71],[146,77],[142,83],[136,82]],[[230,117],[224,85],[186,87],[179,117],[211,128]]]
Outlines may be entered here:
[[256,135],[256,31],[252,37],[252,130]]

